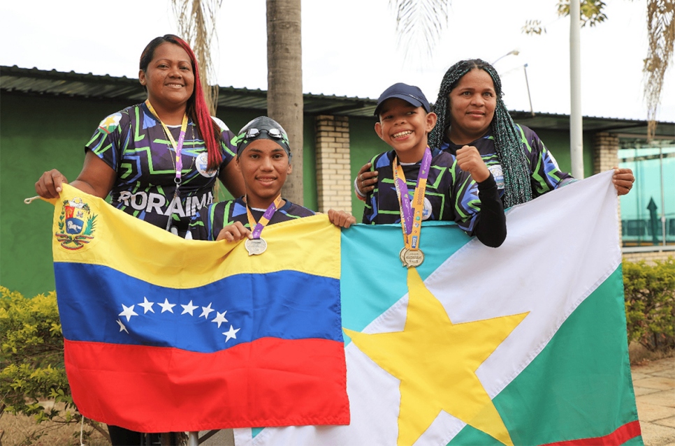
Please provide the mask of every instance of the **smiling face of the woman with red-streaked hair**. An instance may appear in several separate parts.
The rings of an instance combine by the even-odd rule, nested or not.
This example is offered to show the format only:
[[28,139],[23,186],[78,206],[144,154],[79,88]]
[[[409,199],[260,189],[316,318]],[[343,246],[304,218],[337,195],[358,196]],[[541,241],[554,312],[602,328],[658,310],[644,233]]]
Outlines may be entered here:
[[184,109],[194,92],[194,72],[189,55],[180,46],[165,42],[159,45],[147,69],[138,73],[140,84],[147,88],[147,98],[162,111]]

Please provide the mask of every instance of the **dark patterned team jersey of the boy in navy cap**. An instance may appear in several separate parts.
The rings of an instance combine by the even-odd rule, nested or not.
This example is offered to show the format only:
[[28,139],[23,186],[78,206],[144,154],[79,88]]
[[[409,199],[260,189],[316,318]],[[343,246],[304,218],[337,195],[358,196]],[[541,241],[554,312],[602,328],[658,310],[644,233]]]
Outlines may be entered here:
[[[386,151],[370,160],[370,170],[377,170],[375,189],[365,198],[363,223],[382,225],[400,223],[400,205],[393,181],[395,151]],[[478,184],[461,170],[454,155],[440,149],[431,150],[431,166],[424,195],[423,220],[455,221],[473,235],[481,208]],[[414,194],[420,163],[402,164],[410,200]]]

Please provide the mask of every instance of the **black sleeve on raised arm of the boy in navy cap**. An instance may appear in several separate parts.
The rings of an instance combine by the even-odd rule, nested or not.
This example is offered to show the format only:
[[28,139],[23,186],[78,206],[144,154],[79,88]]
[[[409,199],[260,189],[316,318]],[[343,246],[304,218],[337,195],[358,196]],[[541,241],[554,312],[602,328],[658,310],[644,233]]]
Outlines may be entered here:
[[474,235],[485,246],[497,248],[506,239],[506,215],[492,174],[478,184],[478,198],[481,200],[481,211],[478,214]]

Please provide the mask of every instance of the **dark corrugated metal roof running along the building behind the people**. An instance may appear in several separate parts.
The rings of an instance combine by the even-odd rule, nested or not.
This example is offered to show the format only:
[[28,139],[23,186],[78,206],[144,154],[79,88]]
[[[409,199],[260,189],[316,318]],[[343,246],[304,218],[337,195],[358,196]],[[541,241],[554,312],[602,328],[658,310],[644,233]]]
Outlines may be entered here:
[[[15,91],[24,94],[65,95],[82,98],[108,98],[138,103],[146,97],[145,90],[138,79],[64,73],[57,70],[38,70],[37,68],[19,68],[0,66],[0,90]],[[377,101],[370,98],[347,96],[326,96],[324,94],[304,94],[306,114],[337,114],[350,117],[372,117]],[[220,87],[218,107],[245,108],[249,110],[267,110],[267,91]],[[569,130],[569,115],[555,113],[535,113],[511,111],[514,121],[535,129]],[[646,135],[647,121],[638,119],[616,119],[603,117],[584,117],[584,131],[607,131],[625,135]],[[657,135],[675,137],[675,123],[660,122]]]

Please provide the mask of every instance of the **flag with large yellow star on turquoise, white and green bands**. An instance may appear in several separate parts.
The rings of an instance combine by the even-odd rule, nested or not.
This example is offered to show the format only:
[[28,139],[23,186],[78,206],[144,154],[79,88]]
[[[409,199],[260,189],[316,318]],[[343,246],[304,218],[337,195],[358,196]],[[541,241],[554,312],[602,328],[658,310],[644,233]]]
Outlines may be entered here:
[[342,231],[347,426],[251,445],[641,445],[611,172],[509,209],[500,248],[456,225]]

